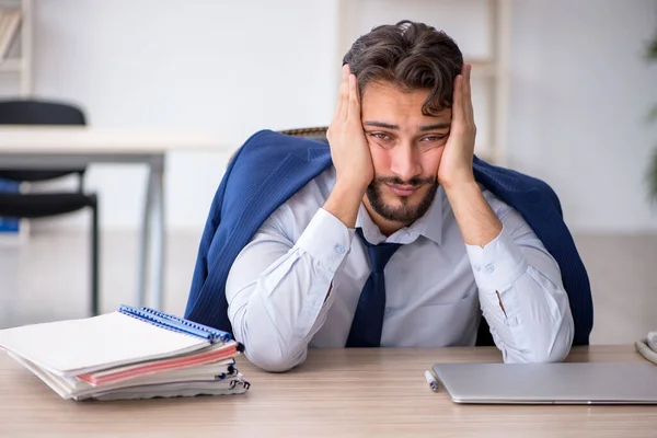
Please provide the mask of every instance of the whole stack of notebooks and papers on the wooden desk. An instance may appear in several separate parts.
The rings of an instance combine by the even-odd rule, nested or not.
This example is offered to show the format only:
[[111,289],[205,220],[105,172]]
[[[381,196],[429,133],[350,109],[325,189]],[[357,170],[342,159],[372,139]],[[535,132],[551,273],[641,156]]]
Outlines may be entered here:
[[65,399],[238,394],[230,335],[148,308],[0,331],[0,348]]

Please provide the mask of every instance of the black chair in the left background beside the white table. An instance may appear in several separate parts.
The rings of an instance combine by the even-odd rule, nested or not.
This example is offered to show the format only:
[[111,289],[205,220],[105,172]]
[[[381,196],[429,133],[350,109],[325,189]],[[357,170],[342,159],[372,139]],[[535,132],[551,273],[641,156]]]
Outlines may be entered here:
[[[79,108],[55,102],[34,100],[0,101],[0,125],[85,125]],[[87,169],[5,169],[0,155],[0,178],[15,182],[42,182],[65,175],[78,175],[76,192],[58,193],[2,193],[0,216],[10,218],[44,218],[65,215],[89,207],[91,227],[91,311],[99,314],[99,200],[95,194],[84,193]]]

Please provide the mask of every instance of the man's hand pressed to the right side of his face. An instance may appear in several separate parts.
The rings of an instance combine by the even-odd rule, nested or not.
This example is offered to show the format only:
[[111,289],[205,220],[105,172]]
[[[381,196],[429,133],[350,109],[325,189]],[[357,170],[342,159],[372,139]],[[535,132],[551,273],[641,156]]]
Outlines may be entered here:
[[472,66],[465,64],[462,74],[454,79],[451,127],[438,168],[438,182],[446,189],[474,181],[472,160],[476,126],[472,111],[471,71]]

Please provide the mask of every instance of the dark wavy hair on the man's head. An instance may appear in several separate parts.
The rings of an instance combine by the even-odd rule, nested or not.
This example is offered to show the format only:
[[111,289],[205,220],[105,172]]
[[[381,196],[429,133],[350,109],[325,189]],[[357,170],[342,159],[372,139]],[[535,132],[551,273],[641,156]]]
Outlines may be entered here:
[[404,20],[377,26],[356,39],[344,64],[358,78],[361,93],[373,80],[391,82],[402,91],[430,90],[422,113],[431,115],[451,106],[463,55],[445,32]]

